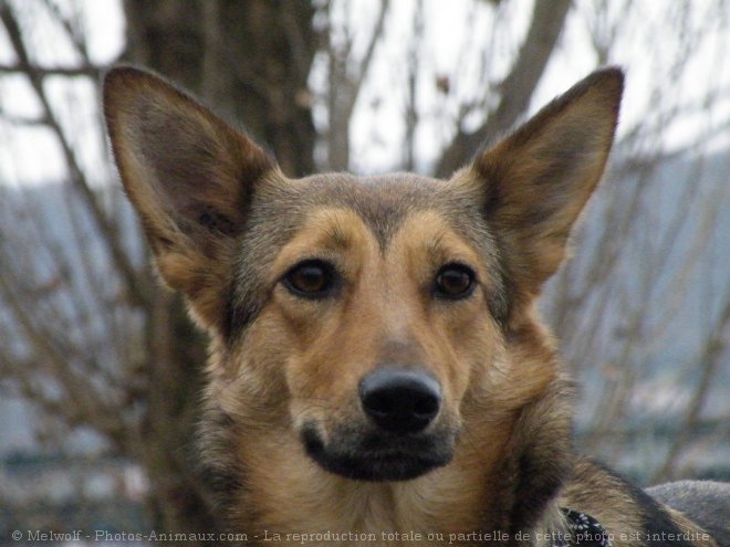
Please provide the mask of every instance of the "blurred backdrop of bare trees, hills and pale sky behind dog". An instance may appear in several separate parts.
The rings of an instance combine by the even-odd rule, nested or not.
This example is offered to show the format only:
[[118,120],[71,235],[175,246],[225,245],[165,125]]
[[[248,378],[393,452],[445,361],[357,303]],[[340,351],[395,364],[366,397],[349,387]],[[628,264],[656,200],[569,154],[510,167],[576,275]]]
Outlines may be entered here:
[[627,90],[543,297],[578,445],[648,484],[730,480],[730,2],[0,0],[0,541],[205,530],[205,338],[160,291],[100,81],[152,67],[289,176],[448,177],[593,69]]

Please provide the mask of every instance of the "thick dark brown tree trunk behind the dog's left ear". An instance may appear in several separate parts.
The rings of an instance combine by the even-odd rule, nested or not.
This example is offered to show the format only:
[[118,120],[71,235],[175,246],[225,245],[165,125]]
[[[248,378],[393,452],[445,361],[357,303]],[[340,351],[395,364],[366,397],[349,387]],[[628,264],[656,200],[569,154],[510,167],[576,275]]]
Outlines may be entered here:
[[[313,170],[306,80],[315,52],[310,2],[127,0],[128,60],[156,70],[240,120],[292,176]],[[213,528],[205,484],[192,481],[205,340],[179,297],[158,291],[149,313],[147,413],[137,454],[149,475],[154,523]]]

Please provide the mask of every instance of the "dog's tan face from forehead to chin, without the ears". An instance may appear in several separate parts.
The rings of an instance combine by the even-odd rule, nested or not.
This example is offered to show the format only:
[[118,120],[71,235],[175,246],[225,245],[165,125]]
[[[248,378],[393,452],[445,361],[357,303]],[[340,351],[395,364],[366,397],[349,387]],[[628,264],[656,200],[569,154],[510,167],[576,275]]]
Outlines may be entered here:
[[[477,208],[407,175],[315,176],[278,191],[242,236],[240,365],[278,381],[289,423],[327,470],[403,480],[447,463],[505,311]],[[262,248],[264,233],[280,241]]]

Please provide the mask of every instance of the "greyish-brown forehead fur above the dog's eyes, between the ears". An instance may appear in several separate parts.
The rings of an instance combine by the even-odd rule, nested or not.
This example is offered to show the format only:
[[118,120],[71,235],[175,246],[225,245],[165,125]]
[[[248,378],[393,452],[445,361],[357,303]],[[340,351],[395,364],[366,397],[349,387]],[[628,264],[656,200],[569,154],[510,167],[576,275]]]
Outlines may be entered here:
[[409,218],[428,211],[428,218],[436,219],[434,229],[449,227],[470,246],[491,256],[494,238],[480,207],[479,200],[458,185],[414,173],[324,173],[274,181],[263,188],[250,209],[241,260],[270,261],[304,227],[312,225],[313,219],[323,219],[322,211],[337,209],[352,211],[382,250]]

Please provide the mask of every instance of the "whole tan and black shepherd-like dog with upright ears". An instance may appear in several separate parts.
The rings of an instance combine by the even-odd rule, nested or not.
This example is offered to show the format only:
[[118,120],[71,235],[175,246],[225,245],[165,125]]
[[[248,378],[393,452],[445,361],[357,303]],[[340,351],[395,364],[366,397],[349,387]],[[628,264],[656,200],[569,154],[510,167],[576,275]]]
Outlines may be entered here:
[[647,493],[576,453],[573,385],[535,308],[603,176],[623,83],[594,72],[449,180],[291,180],[164,78],[106,75],[126,193],[210,336],[200,448],[227,529],[730,545],[727,485]]

